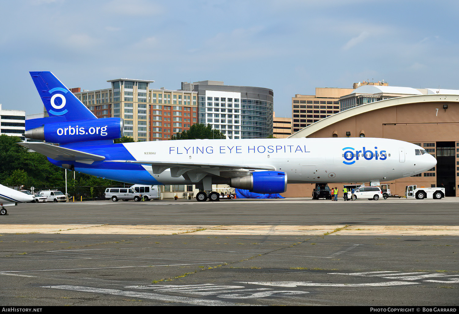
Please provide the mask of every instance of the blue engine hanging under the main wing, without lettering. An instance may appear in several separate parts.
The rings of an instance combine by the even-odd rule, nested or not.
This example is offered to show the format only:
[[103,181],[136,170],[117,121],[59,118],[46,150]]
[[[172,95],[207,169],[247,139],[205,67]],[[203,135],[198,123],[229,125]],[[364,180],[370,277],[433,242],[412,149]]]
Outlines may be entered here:
[[274,194],[287,191],[287,174],[278,171],[257,171],[231,178],[231,186],[254,193]]

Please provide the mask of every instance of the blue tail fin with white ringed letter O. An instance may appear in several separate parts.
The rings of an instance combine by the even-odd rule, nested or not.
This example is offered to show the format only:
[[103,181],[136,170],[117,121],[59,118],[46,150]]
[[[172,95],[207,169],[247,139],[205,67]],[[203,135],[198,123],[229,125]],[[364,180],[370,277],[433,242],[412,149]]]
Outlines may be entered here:
[[30,75],[50,117],[59,117],[59,121],[97,119],[53,73],[30,72]]

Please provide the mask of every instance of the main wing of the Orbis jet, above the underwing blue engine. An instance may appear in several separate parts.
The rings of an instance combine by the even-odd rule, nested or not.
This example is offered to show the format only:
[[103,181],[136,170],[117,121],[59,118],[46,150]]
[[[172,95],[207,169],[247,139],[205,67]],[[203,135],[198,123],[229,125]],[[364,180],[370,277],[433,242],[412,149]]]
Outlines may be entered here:
[[[225,176],[231,175],[234,171],[234,176],[240,176],[241,171],[247,170],[276,170],[274,166],[270,165],[236,165],[236,164],[222,164],[222,163],[187,163],[187,162],[157,162],[157,161],[143,161],[143,160],[111,160],[115,163],[136,163],[146,166],[151,166],[153,174],[161,174],[164,170],[169,169],[171,176],[178,178],[185,173],[191,173],[191,176],[200,177],[203,174],[221,175],[221,172],[226,172]],[[245,170],[246,169],[246,170]],[[188,174],[190,176],[190,173]],[[191,177],[190,176],[190,177]],[[193,180],[194,181],[194,180]]]

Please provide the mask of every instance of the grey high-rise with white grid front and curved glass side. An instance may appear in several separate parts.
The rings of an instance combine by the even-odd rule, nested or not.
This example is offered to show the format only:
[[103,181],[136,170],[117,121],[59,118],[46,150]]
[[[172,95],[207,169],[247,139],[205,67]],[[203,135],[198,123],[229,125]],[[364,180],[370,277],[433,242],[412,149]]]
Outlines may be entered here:
[[198,122],[211,124],[231,139],[273,134],[273,90],[224,85],[220,81],[182,82],[181,89],[197,92]]

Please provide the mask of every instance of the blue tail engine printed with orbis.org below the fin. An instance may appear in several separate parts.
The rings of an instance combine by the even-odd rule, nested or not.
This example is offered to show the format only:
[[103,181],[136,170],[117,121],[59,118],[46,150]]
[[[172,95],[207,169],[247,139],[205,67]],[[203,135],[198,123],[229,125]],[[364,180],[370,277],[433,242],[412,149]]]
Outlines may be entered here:
[[67,144],[119,139],[123,137],[123,129],[123,119],[103,118],[46,123],[41,127],[26,130],[24,136],[49,143]]

